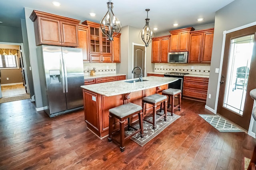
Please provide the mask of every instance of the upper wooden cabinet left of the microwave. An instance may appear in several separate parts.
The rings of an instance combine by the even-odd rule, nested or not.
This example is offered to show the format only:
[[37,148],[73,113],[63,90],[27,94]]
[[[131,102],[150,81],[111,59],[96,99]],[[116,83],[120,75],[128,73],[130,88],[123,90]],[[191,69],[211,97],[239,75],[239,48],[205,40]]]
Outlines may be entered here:
[[170,36],[152,38],[151,63],[167,63]]

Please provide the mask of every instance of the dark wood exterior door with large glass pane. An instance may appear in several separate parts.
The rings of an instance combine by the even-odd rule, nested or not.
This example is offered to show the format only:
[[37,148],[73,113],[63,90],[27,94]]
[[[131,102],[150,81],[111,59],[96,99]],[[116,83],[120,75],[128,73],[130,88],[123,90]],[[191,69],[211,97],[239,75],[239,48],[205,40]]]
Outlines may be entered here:
[[256,88],[255,41],[256,26],[226,34],[217,108],[218,114],[246,130],[254,102],[250,91]]

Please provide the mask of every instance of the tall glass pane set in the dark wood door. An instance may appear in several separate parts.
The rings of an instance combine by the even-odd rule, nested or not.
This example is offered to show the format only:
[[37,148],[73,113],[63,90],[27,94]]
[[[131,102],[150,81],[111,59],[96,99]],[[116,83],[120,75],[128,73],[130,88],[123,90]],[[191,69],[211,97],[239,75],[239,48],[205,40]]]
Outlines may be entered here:
[[243,115],[254,34],[231,39],[223,107]]

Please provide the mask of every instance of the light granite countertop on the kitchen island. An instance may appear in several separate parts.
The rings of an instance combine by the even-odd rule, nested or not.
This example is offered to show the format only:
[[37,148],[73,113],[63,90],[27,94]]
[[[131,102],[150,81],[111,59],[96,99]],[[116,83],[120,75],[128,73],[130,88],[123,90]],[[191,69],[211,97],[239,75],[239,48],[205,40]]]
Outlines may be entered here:
[[138,78],[126,79],[126,80],[120,80],[120,81],[111,81],[111,82],[98,83],[98,84],[92,84],[92,85],[82,85],[81,87],[83,89],[90,90],[100,95],[115,96],[115,95],[131,93],[134,91],[150,89],[150,88],[158,87],[161,85],[166,85],[178,79],[170,78],[170,77],[149,76],[149,77],[143,77],[143,80],[148,80],[148,81],[142,81],[142,82],[138,81],[135,83],[125,82],[129,80],[138,80]]

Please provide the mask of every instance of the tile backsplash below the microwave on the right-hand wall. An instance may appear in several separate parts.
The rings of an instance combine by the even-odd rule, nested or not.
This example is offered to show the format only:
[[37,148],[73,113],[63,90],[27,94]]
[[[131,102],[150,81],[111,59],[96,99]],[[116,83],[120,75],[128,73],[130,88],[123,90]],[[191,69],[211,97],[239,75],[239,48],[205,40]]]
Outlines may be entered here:
[[198,75],[210,75],[210,64],[155,63],[154,72],[178,72]]

